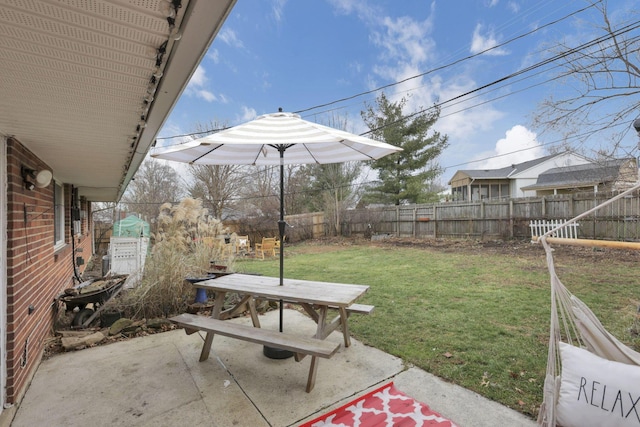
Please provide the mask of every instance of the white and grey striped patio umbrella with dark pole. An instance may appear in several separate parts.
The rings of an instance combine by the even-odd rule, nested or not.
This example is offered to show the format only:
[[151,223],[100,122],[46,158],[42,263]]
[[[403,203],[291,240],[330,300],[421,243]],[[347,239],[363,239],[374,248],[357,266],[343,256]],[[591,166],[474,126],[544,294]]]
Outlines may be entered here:
[[[171,147],[151,156],[194,165],[280,166],[280,285],[284,280],[284,165],[375,160],[401,148],[328,126],[280,109],[238,126]],[[280,332],[283,307],[280,303]],[[266,353],[265,353],[266,354]]]

